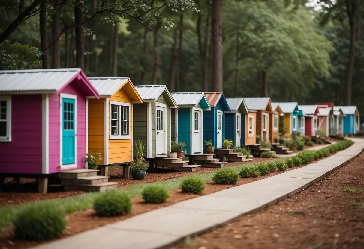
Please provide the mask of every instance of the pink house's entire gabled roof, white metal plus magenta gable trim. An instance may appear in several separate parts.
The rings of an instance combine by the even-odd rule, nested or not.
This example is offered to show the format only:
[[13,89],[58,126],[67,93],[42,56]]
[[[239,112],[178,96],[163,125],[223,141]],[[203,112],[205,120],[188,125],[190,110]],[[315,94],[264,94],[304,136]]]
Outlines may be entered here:
[[99,98],[99,93],[80,68],[29,69],[0,71],[0,93],[60,93],[69,83],[78,79],[86,95]]

